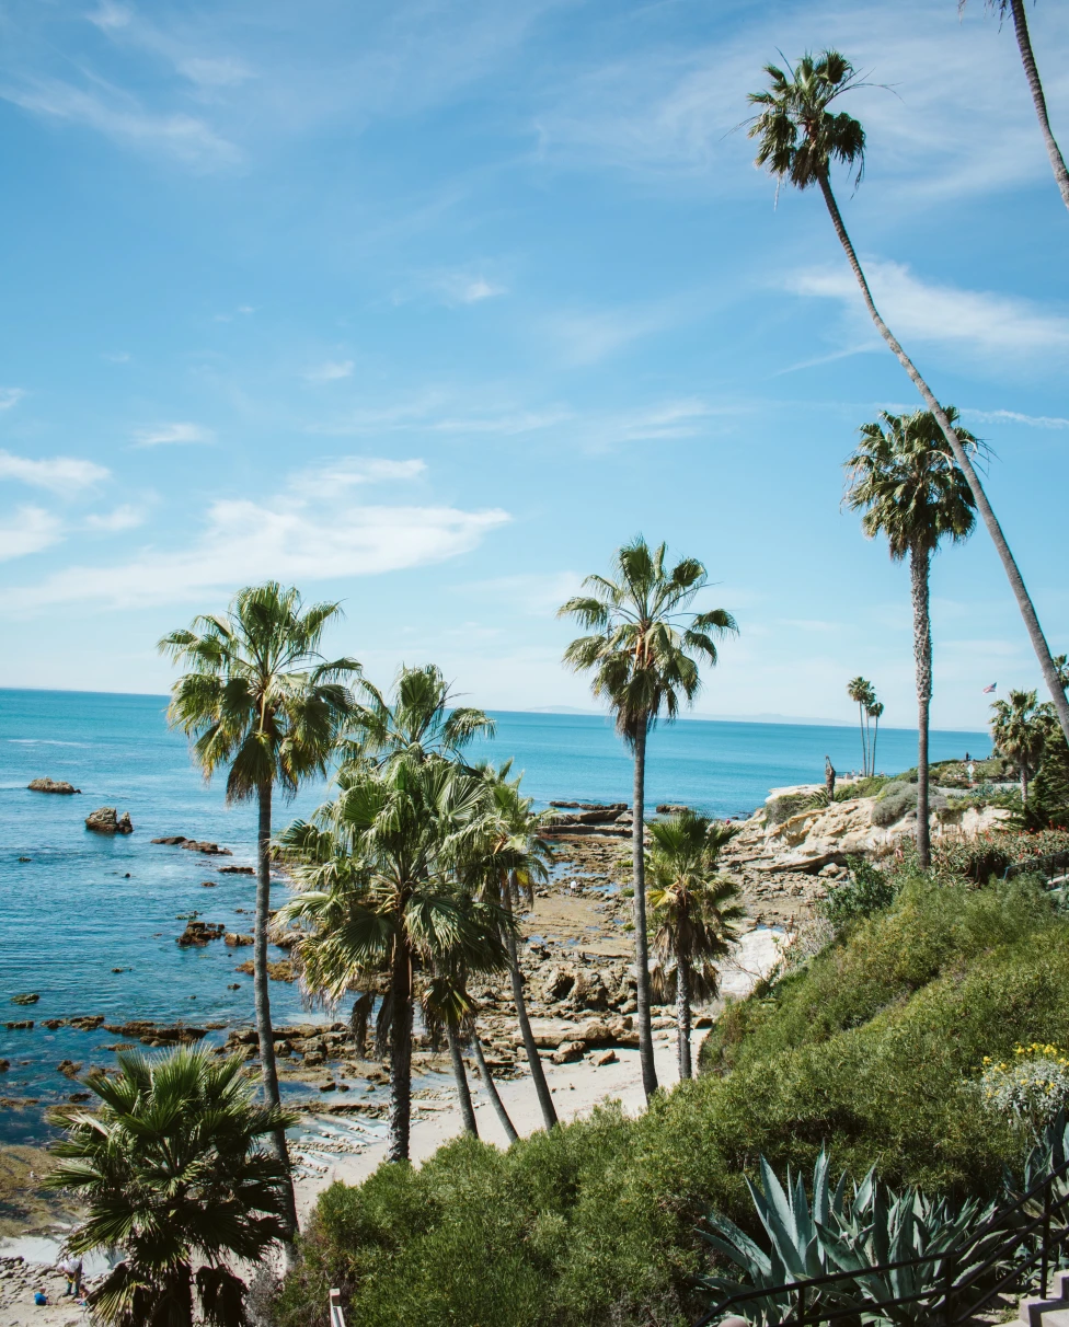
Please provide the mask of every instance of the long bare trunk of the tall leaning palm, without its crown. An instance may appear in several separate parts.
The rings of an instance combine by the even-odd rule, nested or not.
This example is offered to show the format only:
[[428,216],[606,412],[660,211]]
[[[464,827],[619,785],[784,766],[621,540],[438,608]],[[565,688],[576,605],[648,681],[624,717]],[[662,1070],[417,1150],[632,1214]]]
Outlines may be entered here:
[[858,285],[861,287],[862,296],[864,297],[864,305],[868,309],[868,314],[872,318],[876,330],[891,348],[902,368],[910,374],[914,386],[923,397],[927,407],[935,415],[939,427],[943,431],[943,437],[947,439],[949,449],[953,453],[953,459],[960,466],[961,472],[968,482],[976,503],[976,510],[980,512],[980,516],[987,525],[987,531],[991,535],[1003,563],[1003,571],[1007,573],[1007,579],[1009,580],[1009,588],[1013,591],[1013,597],[1017,600],[1017,608],[1024,618],[1025,630],[1028,632],[1032,649],[1038,660],[1042,679],[1050,693],[1050,699],[1054,702],[1054,710],[1058,715],[1061,731],[1065,734],[1065,740],[1069,742],[1069,699],[1066,699],[1065,691],[1058,682],[1058,673],[1054,667],[1054,661],[1050,658],[1050,648],[1046,644],[1046,637],[1042,634],[1042,628],[1040,626],[1040,620],[1036,617],[1036,609],[1029,598],[1028,591],[1025,589],[1024,579],[1021,577],[1017,563],[1013,559],[1013,553],[1009,551],[1009,544],[1005,541],[1003,528],[992,511],[991,503],[984,492],[984,486],[980,483],[980,476],[973,470],[972,462],[965,454],[965,449],[961,446],[961,439],[953,431],[953,426],[947,418],[947,411],[935,399],[932,389],[924,378],[922,378],[914,361],[908,357],[908,354],[906,354],[898,340],[891,333],[891,329],[879,316],[879,311],[872,301],[872,292],[868,289],[868,281],[866,280],[862,265],[858,261],[858,255],[854,252],[854,244],[846,232],[846,227],[843,226],[839,204],[835,202],[835,195],[831,192],[831,182],[827,175],[821,176],[821,191],[823,192],[825,203],[827,206],[829,215],[831,216],[831,224],[835,227],[835,235],[843,247],[850,268],[854,272]]

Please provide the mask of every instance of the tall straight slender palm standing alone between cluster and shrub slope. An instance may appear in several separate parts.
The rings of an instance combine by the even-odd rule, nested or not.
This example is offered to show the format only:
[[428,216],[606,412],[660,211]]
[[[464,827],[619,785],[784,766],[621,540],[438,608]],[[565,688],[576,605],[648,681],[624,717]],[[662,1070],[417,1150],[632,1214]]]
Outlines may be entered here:
[[616,551],[615,580],[587,576],[583,585],[590,593],[570,598],[558,610],[559,617],[574,617],[591,632],[568,645],[564,662],[572,669],[594,673],[594,694],[608,702],[616,715],[616,731],[635,754],[631,840],[635,979],[639,1058],[647,1100],[657,1089],[657,1071],[649,1026],[649,940],[645,926],[645,743],[659,718],[664,717],[671,723],[681,702],[693,702],[701,686],[697,658],[716,664],[713,634],[737,630],[734,618],[722,608],[687,613],[685,609],[706,584],[705,568],[696,559],[684,557],[667,571],[664,557],[664,544],[651,549],[639,535]]

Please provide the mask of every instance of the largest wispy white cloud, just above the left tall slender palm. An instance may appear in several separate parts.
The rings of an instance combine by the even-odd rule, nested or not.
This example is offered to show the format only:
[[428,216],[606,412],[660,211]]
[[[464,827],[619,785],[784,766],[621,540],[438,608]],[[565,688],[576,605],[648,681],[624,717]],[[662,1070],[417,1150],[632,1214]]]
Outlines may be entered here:
[[[339,462],[344,468],[344,462]],[[374,462],[377,478],[410,478],[413,463]],[[406,466],[404,474],[392,464]],[[275,576],[321,581],[373,576],[444,561],[475,548],[510,516],[501,508],[462,511],[437,506],[370,506],[351,502],[347,486],[301,488],[263,502],[219,499],[201,532],[182,548],[142,549],[112,567],[70,567],[37,585],[7,591],[11,609],[35,612],[50,604],[102,601],[112,606],[167,604]]]

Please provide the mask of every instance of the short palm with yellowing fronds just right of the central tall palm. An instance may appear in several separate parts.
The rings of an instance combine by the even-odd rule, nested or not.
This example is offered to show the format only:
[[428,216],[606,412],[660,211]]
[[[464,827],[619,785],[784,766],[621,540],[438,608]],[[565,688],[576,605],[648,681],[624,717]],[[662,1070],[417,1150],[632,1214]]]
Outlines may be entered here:
[[691,1003],[717,993],[716,958],[728,953],[745,909],[738,886],[716,873],[734,825],[684,811],[649,825],[649,906],[657,924],[656,985],[675,986],[680,1079],[691,1067]]

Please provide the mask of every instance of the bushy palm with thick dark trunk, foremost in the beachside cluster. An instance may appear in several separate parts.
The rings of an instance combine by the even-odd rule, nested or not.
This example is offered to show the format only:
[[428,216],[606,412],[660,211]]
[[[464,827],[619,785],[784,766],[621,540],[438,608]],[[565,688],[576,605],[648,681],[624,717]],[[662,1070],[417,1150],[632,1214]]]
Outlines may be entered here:
[[482,780],[441,756],[353,760],[337,775],[335,800],[280,836],[299,893],[279,924],[304,928],[293,949],[304,987],[336,1003],[386,979],[376,1044],[389,1044],[392,1161],[409,1156],[418,982],[436,965],[506,966],[509,918],[458,888],[487,835],[485,804]]

